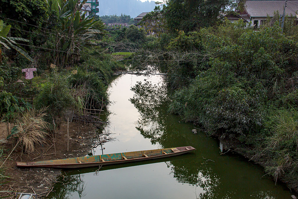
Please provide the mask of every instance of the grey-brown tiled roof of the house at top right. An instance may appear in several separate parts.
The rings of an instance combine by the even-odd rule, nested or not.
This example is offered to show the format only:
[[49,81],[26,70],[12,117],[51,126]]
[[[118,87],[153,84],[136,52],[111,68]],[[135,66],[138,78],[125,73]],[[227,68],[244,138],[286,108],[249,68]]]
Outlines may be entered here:
[[[247,0],[244,4],[246,12],[251,17],[266,17],[267,14],[270,17],[274,16],[274,11],[278,11],[283,14],[285,7],[285,0]],[[288,16],[296,16],[298,10],[298,0],[288,0],[287,7],[285,8],[285,14]]]

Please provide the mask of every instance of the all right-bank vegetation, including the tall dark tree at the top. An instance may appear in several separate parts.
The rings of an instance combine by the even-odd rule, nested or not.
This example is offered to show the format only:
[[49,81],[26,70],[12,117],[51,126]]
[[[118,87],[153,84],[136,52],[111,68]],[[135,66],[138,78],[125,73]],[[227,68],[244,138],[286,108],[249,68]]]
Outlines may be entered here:
[[[188,7],[185,2],[181,17],[175,9],[182,3],[167,3],[143,21],[147,24],[149,18],[155,17],[164,33],[135,57],[139,63],[135,69],[167,72],[170,113],[201,125],[210,136],[232,143],[238,152],[263,165],[274,181],[286,182],[297,192],[295,19],[286,17],[282,33],[279,14],[275,13],[274,18],[268,17],[263,27],[255,30],[242,20],[231,23],[218,19],[226,5],[233,5],[228,1],[212,5],[197,1],[202,13],[196,12],[195,16],[192,10],[196,6]],[[209,6],[216,6],[217,10],[210,11]],[[202,19],[204,11],[210,19]],[[213,11],[217,14],[212,15]],[[144,84],[143,89],[146,87]]]

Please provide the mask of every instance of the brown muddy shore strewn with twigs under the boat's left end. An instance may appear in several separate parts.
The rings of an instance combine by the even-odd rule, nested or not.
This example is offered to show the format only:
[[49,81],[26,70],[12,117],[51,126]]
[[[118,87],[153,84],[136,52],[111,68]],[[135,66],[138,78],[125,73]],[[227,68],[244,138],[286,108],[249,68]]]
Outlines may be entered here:
[[[61,175],[61,169],[52,168],[18,168],[16,162],[32,162],[53,159],[63,159],[71,157],[85,156],[91,152],[94,144],[98,144],[99,135],[92,125],[81,125],[81,134],[77,140],[77,132],[79,131],[78,123],[69,123],[69,151],[67,151],[67,122],[61,122],[60,129],[56,131],[54,141],[51,135],[46,138],[43,145],[36,146],[33,153],[24,153],[20,147],[16,147],[10,155],[10,159],[6,161],[5,174],[9,176],[8,183],[0,186],[1,190],[13,191],[4,195],[12,195],[15,198],[17,192],[36,193],[38,198],[45,198],[52,192],[58,176]],[[106,136],[105,136],[106,138]],[[100,139],[102,142],[108,141],[109,138]],[[5,149],[12,149],[13,143],[4,145]],[[7,154],[8,154],[7,150]],[[1,196],[2,196],[1,195]]]

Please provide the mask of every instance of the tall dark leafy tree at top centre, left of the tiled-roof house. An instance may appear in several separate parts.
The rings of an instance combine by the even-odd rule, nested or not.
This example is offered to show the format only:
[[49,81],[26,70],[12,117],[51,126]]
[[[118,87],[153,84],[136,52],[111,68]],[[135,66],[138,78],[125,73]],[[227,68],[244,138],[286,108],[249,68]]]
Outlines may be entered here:
[[157,13],[155,17],[162,16],[163,26],[170,33],[175,33],[176,30],[188,33],[215,24],[220,12],[234,5],[233,2],[233,0],[166,0],[162,7],[155,8]]

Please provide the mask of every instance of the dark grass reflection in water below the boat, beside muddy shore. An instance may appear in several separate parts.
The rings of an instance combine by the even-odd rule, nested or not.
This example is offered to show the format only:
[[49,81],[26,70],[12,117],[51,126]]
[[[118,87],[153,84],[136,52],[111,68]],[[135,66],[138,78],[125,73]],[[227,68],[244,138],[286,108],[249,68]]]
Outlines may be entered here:
[[56,185],[55,192],[49,198],[51,199],[65,199],[71,198],[74,193],[77,193],[80,198],[84,197],[86,194],[84,193],[84,182],[82,179],[83,176],[78,175],[70,175],[64,176],[62,175],[58,181],[59,184]]

